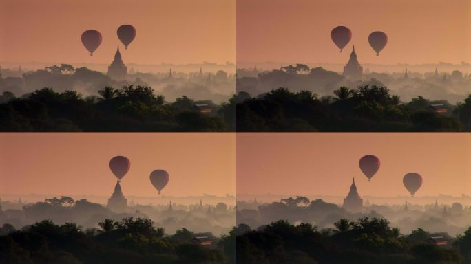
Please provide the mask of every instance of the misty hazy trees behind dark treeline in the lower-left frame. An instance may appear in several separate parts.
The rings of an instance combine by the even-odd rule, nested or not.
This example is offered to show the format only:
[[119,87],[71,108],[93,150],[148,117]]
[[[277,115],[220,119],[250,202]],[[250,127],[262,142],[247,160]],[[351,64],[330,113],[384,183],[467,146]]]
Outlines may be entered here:
[[[134,202],[133,202],[134,203]],[[225,203],[194,203],[187,206],[173,203],[172,206],[131,204],[125,212],[114,212],[100,203],[72,197],[53,197],[37,203],[8,203],[1,208],[0,224],[8,223],[16,229],[49,219],[59,225],[74,222],[82,228],[98,228],[103,219],[120,221],[124,217],[149,218],[167,232],[188,228],[195,232],[212,232],[220,235],[229,232],[235,224],[235,211]]]

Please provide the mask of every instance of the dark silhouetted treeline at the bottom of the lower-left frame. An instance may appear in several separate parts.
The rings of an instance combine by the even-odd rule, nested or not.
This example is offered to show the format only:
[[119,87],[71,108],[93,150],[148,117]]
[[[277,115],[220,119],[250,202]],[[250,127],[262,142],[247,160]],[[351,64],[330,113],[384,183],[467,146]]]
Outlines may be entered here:
[[[128,217],[98,223],[99,230],[82,230],[75,223],[56,225],[44,220],[16,231],[3,225],[0,231],[1,263],[226,263],[211,234],[178,230],[165,235],[150,219]],[[212,246],[203,246],[196,237],[206,236]]]

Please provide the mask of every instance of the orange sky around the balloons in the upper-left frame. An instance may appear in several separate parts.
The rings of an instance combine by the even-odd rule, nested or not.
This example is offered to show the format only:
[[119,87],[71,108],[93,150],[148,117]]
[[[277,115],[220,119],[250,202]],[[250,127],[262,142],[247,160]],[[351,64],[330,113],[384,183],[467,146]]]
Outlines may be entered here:
[[[125,63],[235,61],[234,0],[1,0],[0,61],[111,63],[122,24],[137,31]],[[88,29],[103,36],[92,57]]]

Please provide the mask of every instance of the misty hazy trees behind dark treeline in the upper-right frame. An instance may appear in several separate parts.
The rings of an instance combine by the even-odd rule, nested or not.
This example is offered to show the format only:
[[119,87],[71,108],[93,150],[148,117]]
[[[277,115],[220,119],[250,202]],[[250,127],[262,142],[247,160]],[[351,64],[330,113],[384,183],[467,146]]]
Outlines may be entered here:
[[[417,96],[430,100],[446,100],[452,104],[462,101],[471,89],[471,75],[451,65],[435,65],[436,72],[371,72],[366,68],[362,80],[350,80],[337,72],[322,67],[309,68],[305,64],[282,66],[280,69],[265,71],[261,69],[237,69],[236,91],[245,91],[251,96],[263,94],[279,87],[289,87],[293,92],[312,91],[318,96],[331,96],[338,87],[357,87],[359,85],[386,86],[392,94],[400,96],[404,102]],[[458,67],[459,65],[457,65]],[[428,65],[428,69],[433,65]],[[445,68],[450,72],[439,72]],[[468,68],[469,69],[469,68]]]

